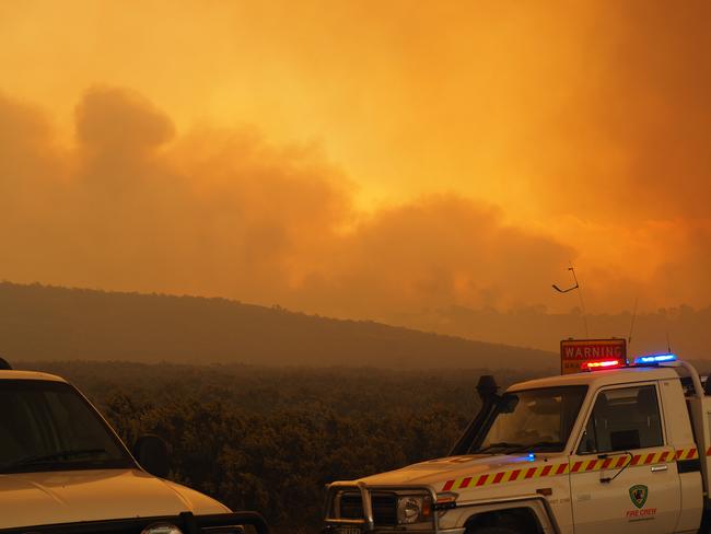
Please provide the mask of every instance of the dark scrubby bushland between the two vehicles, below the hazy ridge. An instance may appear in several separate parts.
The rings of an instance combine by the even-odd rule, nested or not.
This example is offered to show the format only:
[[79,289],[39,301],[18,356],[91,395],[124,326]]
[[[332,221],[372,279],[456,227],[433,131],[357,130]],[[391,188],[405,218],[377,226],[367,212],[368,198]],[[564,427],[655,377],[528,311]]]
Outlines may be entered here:
[[[283,534],[316,533],[324,485],[446,454],[485,370],[27,362],[79,386],[127,443],[158,433],[171,478]],[[501,385],[532,374],[499,372]]]

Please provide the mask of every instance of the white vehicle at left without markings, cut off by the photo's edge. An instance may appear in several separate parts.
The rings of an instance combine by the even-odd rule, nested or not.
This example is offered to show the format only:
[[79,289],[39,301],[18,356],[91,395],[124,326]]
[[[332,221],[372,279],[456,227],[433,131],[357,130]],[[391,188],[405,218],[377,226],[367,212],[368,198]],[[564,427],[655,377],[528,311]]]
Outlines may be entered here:
[[131,454],[72,385],[0,358],[0,533],[268,533],[259,514],[232,513],[167,469],[158,437]]

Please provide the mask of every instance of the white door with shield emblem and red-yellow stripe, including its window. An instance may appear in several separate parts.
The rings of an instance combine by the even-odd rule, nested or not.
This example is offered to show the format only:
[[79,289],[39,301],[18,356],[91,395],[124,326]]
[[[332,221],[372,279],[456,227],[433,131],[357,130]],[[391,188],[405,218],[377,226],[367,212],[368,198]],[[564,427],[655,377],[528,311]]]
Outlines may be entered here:
[[681,490],[656,382],[597,393],[570,485],[575,534],[674,532]]

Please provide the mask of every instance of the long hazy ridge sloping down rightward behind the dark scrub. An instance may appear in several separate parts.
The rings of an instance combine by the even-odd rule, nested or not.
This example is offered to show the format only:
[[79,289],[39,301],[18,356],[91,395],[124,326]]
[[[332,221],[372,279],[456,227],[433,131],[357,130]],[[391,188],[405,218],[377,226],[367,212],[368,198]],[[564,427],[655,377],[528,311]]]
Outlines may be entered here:
[[0,355],[267,365],[555,368],[553,352],[224,299],[0,283]]

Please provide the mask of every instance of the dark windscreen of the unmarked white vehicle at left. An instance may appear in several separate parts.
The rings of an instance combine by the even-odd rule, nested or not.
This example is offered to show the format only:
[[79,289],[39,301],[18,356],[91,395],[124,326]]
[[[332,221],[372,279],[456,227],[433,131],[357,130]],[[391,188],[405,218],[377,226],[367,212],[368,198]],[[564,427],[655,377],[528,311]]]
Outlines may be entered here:
[[0,380],[0,473],[103,469],[133,461],[71,385]]

